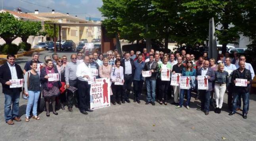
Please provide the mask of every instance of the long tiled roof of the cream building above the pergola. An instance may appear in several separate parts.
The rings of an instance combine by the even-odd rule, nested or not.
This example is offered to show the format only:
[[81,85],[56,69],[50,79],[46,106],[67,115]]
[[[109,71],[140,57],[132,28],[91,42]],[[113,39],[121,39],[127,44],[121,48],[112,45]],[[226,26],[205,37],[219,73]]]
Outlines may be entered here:
[[71,19],[73,21],[85,21],[84,19],[79,19],[77,17],[74,17],[74,16],[71,16],[71,15],[66,15],[66,14],[63,14],[63,13],[59,13],[59,12],[55,12],[55,13],[51,13],[51,12],[47,12],[47,13],[38,13],[38,14],[35,14],[35,13],[28,13],[30,15],[33,15],[33,16],[38,16],[38,17],[46,17],[46,18],[66,18],[66,19]]

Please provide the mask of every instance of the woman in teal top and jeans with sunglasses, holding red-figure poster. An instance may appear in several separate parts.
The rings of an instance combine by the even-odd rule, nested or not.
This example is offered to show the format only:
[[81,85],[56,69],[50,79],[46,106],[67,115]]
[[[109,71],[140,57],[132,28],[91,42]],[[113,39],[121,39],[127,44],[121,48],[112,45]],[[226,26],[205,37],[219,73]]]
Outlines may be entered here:
[[[182,70],[182,76],[187,76],[187,79],[188,79],[188,81],[186,81],[186,85],[189,85],[189,83],[191,81],[191,76],[196,75],[196,70],[193,68],[192,63],[193,62],[191,60],[187,60],[186,61],[186,67],[183,68],[183,70]],[[186,89],[180,88],[180,103],[179,103],[180,105],[176,106],[176,108],[181,108],[182,107],[185,90]],[[187,103],[186,103],[187,109],[190,109],[190,107],[189,107],[190,98],[191,98],[191,87],[188,87],[188,89],[187,89]]]

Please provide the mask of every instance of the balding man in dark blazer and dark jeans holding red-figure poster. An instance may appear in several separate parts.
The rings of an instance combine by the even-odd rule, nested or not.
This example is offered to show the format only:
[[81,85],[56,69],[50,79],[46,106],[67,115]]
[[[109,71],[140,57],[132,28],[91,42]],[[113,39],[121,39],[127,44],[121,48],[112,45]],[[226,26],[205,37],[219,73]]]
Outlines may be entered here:
[[204,111],[205,115],[209,115],[209,107],[210,107],[210,96],[212,89],[212,83],[215,80],[215,73],[214,70],[209,68],[209,61],[204,61],[203,68],[200,68],[197,70],[197,76],[203,75],[207,76],[208,79],[208,90],[199,90],[200,98],[201,98],[201,108],[198,108],[197,110]]

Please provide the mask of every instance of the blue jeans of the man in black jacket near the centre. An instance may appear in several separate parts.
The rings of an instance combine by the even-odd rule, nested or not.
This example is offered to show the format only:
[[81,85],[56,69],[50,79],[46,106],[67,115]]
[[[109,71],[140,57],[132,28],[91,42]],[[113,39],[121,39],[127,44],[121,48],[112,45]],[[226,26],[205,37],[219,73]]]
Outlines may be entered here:
[[156,79],[146,79],[147,102],[155,102]]

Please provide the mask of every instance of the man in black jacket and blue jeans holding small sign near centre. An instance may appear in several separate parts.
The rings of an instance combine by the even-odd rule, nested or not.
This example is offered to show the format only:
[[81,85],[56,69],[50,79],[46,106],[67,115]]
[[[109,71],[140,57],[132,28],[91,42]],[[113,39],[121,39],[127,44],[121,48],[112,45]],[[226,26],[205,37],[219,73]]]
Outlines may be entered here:
[[143,71],[150,71],[151,76],[146,77],[146,86],[147,86],[147,102],[146,105],[151,103],[153,106],[155,105],[155,88],[156,88],[156,79],[157,73],[159,71],[159,67],[157,62],[154,61],[154,55],[149,55],[149,62],[145,64]]

